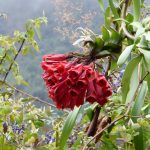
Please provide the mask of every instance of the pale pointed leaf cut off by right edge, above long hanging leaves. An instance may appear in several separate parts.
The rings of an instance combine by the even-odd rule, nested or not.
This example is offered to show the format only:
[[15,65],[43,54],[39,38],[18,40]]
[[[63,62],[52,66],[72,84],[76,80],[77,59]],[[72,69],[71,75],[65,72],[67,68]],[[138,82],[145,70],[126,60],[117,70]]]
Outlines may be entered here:
[[147,70],[150,71],[150,51],[139,48],[139,51],[144,55]]

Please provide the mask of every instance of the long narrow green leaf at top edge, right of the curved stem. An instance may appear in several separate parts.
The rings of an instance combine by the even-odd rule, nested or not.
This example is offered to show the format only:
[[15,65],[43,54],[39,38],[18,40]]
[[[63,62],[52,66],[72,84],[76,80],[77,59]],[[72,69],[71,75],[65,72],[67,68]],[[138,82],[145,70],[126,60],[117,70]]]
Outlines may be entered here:
[[138,21],[141,14],[141,0],[133,0],[134,21]]

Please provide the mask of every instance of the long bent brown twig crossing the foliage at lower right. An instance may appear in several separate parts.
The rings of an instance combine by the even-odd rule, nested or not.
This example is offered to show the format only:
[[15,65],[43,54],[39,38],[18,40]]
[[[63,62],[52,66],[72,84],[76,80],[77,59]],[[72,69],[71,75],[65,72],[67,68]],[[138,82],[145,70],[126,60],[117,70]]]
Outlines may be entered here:
[[109,127],[111,127],[112,125],[114,125],[116,122],[118,122],[119,120],[121,120],[124,117],[128,117],[128,113],[131,109],[132,103],[134,102],[136,95],[137,95],[137,91],[139,89],[139,87],[141,86],[141,84],[143,83],[144,79],[148,76],[149,72],[147,72],[147,74],[143,77],[143,79],[139,82],[138,87],[136,89],[136,92],[134,93],[134,96],[132,97],[131,101],[126,105],[127,106],[127,111],[120,117],[118,117],[117,119],[115,119],[114,121],[112,121],[110,124],[108,124],[105,128],[103,128],[100,132],[98,132],[94,137],[92,137],[83,147],[82,150],[86,150],[86,147],[89,145],[90,142],[92,142],[98,135],[100,135],[102,132],[104,132],[106,129],[108,129]]

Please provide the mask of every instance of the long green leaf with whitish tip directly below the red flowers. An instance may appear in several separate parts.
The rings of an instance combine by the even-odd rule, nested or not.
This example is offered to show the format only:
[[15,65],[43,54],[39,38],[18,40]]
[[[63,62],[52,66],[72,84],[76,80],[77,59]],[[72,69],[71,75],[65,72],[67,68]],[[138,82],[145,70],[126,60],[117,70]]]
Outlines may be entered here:
[[59,150],[63,150],[64,146],[66,145],[67,139],[73,129],[73,126],[75,124],[75,121],[77,119],[77,116],[79,114],[80,108],[75,108],[67,117],[63,130],[62,130],[62,134],[60,137],[60,144],[59,144]]

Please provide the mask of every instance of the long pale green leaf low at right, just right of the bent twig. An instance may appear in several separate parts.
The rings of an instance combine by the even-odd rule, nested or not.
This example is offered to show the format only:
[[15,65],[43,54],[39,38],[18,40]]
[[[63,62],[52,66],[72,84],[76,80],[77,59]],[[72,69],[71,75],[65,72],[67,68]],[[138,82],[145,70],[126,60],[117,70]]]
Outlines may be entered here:
[[[142,106],[144,104],[144,98],[147,94],[147,91],[148,91],[148,85],[147,85],[147,82],[144,81],[142,83],[142,86],[139,90],[139,93],[138,93],[138,96],[136,98],[136,101],[134,103],[134,106],[132,108],[132,116],[139,116],[140,113],[141,113],[141,109],[142,109]],[[136,117],[133,117],[132,120],[134,122],[137,121],[137,118]]]

